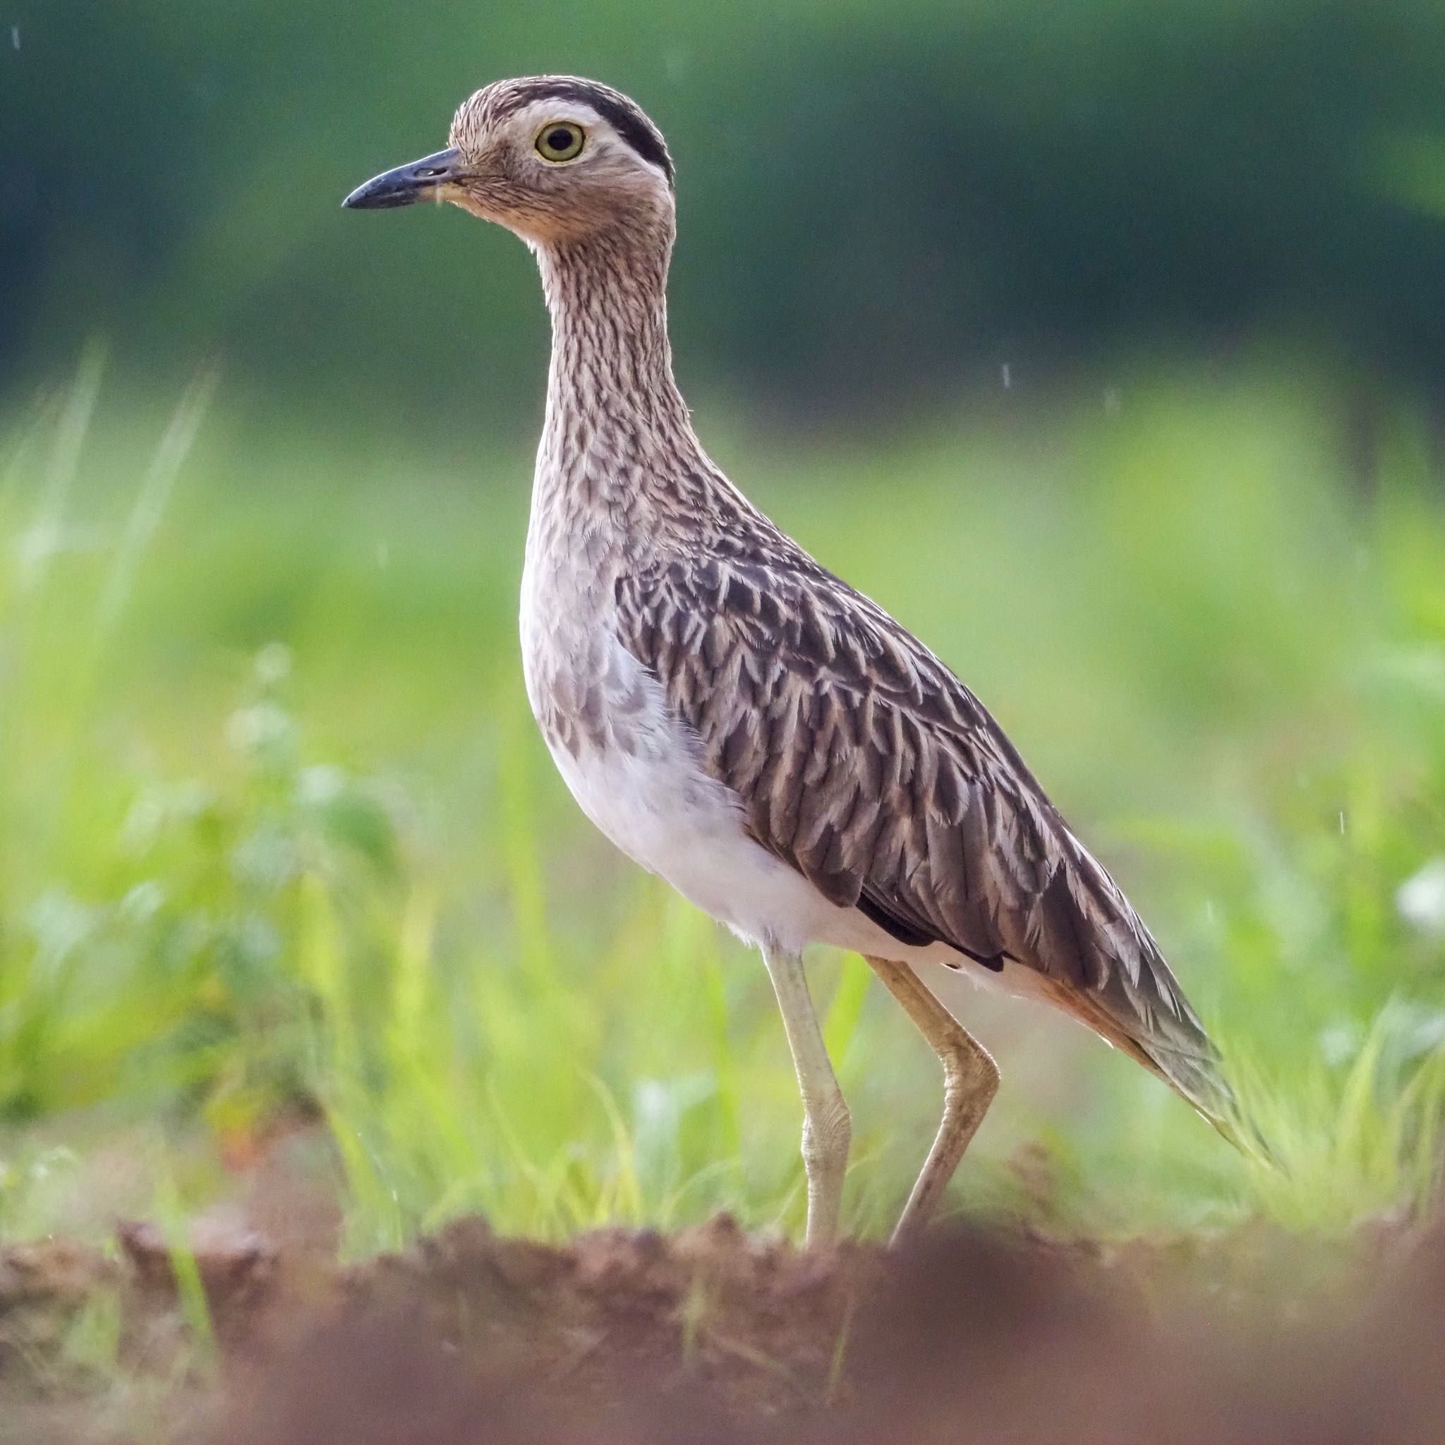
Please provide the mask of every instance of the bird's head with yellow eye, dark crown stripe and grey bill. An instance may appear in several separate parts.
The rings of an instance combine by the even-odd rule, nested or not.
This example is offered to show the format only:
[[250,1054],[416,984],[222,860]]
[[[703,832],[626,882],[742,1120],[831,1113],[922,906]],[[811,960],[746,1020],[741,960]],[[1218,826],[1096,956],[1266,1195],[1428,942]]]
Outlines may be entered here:
[[617,225],[670,230],[662,133],[607,85],[572,75],[497,81],[462,103],[448,139],[445,150],[383,172],[342,205],[451,201],[543,246]]

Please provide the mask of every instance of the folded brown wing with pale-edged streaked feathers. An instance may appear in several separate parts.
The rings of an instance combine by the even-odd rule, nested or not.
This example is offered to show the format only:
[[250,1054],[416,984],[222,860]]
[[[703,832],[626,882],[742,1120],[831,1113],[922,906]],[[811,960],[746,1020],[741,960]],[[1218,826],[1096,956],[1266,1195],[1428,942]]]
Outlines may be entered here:
[[1045,993],[1205,1114],[1227,1091],[1157,945],[1001,728],[926,647],[805,553],[617,582],[662,683],[757,841],[828,899]]

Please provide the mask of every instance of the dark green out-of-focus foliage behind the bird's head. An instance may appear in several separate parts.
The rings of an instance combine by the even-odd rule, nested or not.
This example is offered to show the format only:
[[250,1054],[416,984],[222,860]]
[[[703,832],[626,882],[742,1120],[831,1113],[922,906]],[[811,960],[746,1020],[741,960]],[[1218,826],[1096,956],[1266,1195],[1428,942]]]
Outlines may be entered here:
[[[0,29],[0,376],[123,370],[516,425],[529,263],[341,195],[506,74],[633,91],[681,165],[691,380],[780,413],[1009,363],[1285,325],[1368,374],[1445,355],[1445,10],[1431,0],[176,7]],[[10,26],[13,25],[13,29]]]

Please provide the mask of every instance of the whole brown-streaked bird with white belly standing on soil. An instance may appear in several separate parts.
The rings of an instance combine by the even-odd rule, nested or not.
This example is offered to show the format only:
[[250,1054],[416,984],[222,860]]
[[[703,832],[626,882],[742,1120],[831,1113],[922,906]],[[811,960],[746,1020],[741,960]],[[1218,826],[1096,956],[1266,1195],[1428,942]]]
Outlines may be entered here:
[[676,175],[629,97],[501,79],[445,149],[342,202],[451,202],[533,251],[552,327],[523,673],[582,812],[760,949],[802,1097],[805,1244],[840,1231],[851,1117],[803,970],[861,954],[936,1053],[944,1111],[893,1243],[933,1220],[998,1088],[942,970],[1062,1010],[1225,1136],[1220,1055],[1123,892],[993,715],[704,451],[673,379]]

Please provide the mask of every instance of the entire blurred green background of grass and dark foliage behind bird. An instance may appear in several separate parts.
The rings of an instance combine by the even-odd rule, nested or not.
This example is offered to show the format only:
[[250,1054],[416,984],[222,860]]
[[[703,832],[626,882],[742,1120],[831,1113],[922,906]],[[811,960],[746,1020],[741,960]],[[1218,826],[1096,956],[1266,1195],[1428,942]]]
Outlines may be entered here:
[[[1006,1082],[955,1205],[1428,1195],[1445,12],[10,0],[0,1233],[237,1199],[279,1155],[354,1248],[801,1218],[757,959],[610,853],[526,715],[532,262],[338,208],[536,71],[663,127],[704,439],[997,712],[1292,1166],[964,993]],[[814,974],[879,1230],[933,1064],[861,962]]]

